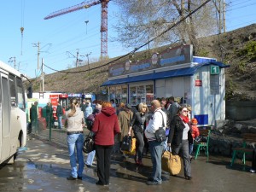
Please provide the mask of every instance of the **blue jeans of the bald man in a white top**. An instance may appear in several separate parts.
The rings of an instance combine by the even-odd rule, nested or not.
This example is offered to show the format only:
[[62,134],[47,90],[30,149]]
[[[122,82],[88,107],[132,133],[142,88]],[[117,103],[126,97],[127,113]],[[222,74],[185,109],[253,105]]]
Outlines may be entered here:
[[164,150],[164,143],[165,142],[148,141],[149,148],[150,148],[150,154],[151,154],[151,161],[153,164],[152,178],[153,178],[154,182],[157,182],[157,183],[162,183],[161,158],[162,158],[162,153]]

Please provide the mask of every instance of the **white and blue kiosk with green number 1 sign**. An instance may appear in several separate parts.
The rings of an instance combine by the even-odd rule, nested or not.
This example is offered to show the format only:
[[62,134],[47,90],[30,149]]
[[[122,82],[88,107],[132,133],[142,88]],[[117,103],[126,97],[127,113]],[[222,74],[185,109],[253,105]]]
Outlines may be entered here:
[[108,68],[108,99],[150,105],[155,98],[181,97],[198,125],[225,119],[224,68],[213,58],[193,56],[192,45],[166,48],[146,61],[125,61]]

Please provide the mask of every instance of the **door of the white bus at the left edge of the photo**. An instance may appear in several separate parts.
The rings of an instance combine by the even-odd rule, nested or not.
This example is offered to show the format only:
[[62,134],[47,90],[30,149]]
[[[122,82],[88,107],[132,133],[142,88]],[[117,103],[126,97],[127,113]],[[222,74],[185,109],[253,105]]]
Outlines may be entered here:
[[1,73],[0,82],[0,151],[1,160],[7,159],[10,154],[10,97],[8,76]]

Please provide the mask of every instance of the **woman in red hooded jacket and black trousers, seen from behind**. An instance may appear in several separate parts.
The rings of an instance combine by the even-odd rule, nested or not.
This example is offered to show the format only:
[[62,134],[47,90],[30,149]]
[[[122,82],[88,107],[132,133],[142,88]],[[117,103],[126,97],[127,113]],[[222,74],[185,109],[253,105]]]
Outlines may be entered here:
[[102,103],[102,111],[96,115],[92,130],[95,133],[98,185],[109,184],[110,155],[114,135],[120,132],[119,120],[111,102]]

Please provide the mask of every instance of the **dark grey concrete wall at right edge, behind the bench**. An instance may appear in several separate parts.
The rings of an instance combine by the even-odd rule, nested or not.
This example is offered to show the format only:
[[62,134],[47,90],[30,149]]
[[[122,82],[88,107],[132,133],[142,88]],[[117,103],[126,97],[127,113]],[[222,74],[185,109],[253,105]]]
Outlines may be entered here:
[[256,119],[256,101],[227,101],[226,119],[233,119],[238,121]]

